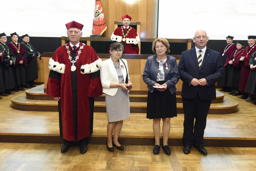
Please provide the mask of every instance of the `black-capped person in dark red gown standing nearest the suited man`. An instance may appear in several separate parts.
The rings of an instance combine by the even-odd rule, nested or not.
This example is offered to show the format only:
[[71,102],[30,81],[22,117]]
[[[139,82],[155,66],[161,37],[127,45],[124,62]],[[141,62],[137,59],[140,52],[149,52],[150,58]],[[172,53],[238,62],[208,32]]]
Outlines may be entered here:
[[234,50],[236,50],[236,45],[233,43],[233,36],[227,36],[226,37],[226,42],[228,43],[227,46],[225,47],[225,49],[223,49],[222,53],[221,53],[221,59],[222,59],[222,64],[224,66],[224,75],[222,76],[222,78],[218,81],[218,85],[222,86],[223,88],[220,91],[224,91],[224,92],[229,92],[231,87],[227,86],[227,78],[228,78],[228,70],[229,67],[225,66],[225,62],[227,59],[231,59],[231,52],[233,52]]

